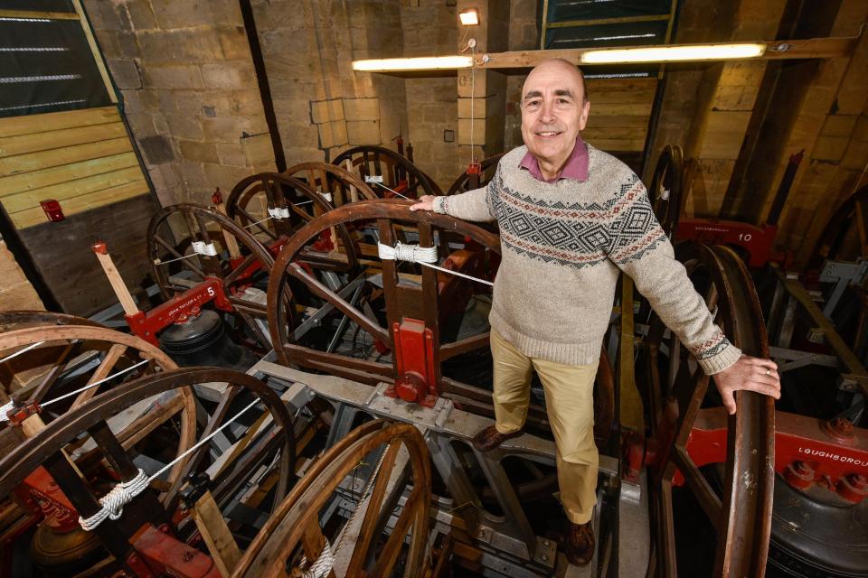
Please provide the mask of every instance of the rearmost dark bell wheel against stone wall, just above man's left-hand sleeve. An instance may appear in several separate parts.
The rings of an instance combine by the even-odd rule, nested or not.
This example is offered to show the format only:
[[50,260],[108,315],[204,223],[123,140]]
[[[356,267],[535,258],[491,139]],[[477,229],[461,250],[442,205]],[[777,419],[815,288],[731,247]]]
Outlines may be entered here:
[[[415,164],[383,146],[355,146],[338,154],[332,163],[345,166],[347,161],[354,172],[362,175],[363,180],[365,177],[381,176],[383,185],[410,199],[440,194],[439,187]],[[379,185],[372,184],[371,188],[380,197],[388,199],[395,196],[394,192]]]

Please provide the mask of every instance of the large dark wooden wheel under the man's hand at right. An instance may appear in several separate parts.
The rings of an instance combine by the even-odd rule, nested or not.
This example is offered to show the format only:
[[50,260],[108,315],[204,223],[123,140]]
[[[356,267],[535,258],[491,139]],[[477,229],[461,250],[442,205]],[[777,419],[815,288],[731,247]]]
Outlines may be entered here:
[[[768,358],[760,303],[741,259],[727,247],[681,245],[678,255],[729,340],[749,355]],[[708,387],[709,377],[680,341],[666,334],[655,314],[646,340],[647,397],[657,452],[649,475],[654,575],[678,575],[673,486],[683,476],[717,536],[712,575],[762,576],[774,484],[774,400],[741,391],[735,415],[727,418],[719,401],[707,408],[714,406],[716,394]],[[712,489],[711,474],[701,471],[703,464],[686,450],[694,424],[700,423],[727,424],[721,492]]]

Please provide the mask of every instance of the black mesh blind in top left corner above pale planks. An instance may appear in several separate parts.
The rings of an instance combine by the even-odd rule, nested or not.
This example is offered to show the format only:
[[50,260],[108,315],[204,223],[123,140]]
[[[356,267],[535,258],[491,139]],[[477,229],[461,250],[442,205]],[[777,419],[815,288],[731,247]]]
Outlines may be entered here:
[[111,104],[69,0],[0,0],[0,117]]

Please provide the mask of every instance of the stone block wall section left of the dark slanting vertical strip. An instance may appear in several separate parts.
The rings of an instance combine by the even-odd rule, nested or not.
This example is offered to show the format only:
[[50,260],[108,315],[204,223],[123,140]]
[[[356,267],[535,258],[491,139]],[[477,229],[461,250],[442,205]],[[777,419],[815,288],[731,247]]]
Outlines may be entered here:
[[237,0],[84,6],[164,205],[274,169]]

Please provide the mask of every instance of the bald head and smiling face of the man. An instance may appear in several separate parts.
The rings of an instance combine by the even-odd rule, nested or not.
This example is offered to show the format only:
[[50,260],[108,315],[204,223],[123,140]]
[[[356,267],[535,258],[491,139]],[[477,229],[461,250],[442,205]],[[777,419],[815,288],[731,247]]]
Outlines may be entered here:
[[524,144],[538,161],[560,168],[588,123],[589,112],[579,71],[567,62],[543,62],[524,81]]

